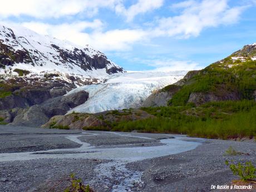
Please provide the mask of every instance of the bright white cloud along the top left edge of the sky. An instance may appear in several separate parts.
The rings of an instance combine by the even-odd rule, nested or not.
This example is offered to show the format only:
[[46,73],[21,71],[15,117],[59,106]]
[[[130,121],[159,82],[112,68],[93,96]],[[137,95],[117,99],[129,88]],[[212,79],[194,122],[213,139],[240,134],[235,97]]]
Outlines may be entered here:
[[99,8],[115,8],[121,0],[8,0],[1,1],[0,17],[31,16],[36,18],[59,18],[98,12]]

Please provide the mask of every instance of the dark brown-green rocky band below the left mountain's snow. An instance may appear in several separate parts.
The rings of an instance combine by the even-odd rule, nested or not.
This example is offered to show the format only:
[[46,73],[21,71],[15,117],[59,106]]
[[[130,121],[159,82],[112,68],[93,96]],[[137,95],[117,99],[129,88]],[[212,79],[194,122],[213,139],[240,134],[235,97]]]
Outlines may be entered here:
[[7,78],[0,80],[0,93],[8,95],[0,98],[0,110],[27,108],[41,104],[48,99],[60,97],[76,88],[63,80],[46,82],[38,78]]

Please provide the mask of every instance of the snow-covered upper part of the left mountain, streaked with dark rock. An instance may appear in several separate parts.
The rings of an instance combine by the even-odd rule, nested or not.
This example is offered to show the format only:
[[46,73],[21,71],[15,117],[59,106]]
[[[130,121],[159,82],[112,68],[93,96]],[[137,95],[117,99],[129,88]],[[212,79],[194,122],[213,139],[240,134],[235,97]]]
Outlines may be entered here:
[[18,75],[21,70],[29,71],[28,77],[56,74],[78,85],[125,72],[88,45],[80,47],[21,26],[0,24],[0,74]]

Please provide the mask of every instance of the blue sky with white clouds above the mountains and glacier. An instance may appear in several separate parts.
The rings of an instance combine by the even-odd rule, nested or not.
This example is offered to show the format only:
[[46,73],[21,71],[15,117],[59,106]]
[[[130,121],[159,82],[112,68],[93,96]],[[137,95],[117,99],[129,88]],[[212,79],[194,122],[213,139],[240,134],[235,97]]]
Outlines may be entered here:
[[256,42],[256,0],[0,0],[0,22],[93,48],[126,70],[193,70]]

